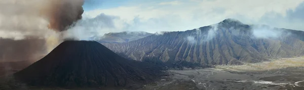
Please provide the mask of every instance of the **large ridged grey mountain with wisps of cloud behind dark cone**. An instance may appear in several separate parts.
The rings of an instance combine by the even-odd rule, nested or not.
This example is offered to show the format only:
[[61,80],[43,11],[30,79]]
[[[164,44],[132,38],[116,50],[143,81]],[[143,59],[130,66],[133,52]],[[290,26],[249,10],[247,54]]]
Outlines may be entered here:
[[[233,19],[216,25],[217,28],[206,26],[184,32],[150,35],[128,43],[104,45],[135,60],[154,57],[164,62],[187,61],[202,65],[243,64],[304,54],[302,31],[274,28],[275,32],[281,33],[279,37],[256,38],[253,35],[255,25]],[[187,40],[187,37],[193,40]]]

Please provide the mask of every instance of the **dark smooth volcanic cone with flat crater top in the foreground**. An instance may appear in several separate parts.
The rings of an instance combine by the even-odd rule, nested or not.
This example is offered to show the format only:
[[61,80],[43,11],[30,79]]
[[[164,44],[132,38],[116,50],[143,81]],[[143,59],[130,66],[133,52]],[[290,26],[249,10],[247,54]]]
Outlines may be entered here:
[[139,88],[160,73],[160,68],[127,60],[96,41],[64,41],[14,77],[31,86]]

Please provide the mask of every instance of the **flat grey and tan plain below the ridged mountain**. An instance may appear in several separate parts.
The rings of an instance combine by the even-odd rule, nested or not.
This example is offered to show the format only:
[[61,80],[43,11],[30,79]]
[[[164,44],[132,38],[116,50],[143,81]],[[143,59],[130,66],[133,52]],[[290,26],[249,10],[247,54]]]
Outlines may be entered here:
[[156,83],[147,84],[143,89],[302,90],[304,89],[303,61],[303,57],[295,57],[254,64],[168,70],[171,73],[170,78],[163,77]]

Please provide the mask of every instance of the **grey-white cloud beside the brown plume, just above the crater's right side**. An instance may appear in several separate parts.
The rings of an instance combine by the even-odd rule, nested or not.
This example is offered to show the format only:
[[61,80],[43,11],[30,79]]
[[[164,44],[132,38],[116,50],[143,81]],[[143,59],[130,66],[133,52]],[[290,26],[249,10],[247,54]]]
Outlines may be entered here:
[[75,22],[63,32],[63,38],[74,40],[95,40],[107,32],[123,31],[124,22],[117,21],[117,17],[101,14],[92,19],[83,19]]

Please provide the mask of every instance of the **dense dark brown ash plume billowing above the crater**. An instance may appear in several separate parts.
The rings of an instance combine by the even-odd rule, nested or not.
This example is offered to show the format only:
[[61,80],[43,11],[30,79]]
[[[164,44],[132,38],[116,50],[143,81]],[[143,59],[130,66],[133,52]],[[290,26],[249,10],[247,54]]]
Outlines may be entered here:
[[49,28],[64,31],[73,22],[82,19],[84,0],[49,0],[42,12],[49,20]]

